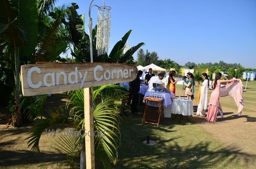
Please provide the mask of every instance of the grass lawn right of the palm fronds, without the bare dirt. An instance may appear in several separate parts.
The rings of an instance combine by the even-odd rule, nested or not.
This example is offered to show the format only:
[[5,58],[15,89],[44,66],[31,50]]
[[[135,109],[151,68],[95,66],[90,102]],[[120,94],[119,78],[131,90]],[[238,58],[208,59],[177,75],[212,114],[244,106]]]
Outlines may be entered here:
[[[195,87],[195,89],[197,94],[198,88]],[[211,92],[209,91],[209,95]],[[181,86],[177,85],[176,95],[181,95],[181,93]],[[256,82],[249,82],[247,92],[243,93],[246,105],[243,116],[249,114],[254,115],[250,118],[255,118],[255,94]],[[193,104],[197,105],[196,99]],[[221,104],[224,112],[226,112],[225,110],[230,111],[231,107],[234,112],[232,112],[234,114],[232,116],[236,116],[237,108],[230,96],[221,98]],[[140,108],[143,112],[143,107]],[[224,113],[225,116],[226,114]],[[197,121],[193,120],[195,118],[197,117],[189,117],[191,121]],[[156,125],[142,126],[142,113],[123,119],[122,145],[119,149],[117,168],[255,168],[255,147],[251,147],[252,153],[248,153],[240,147],[225,146],[221,140],[218,140],[218,137],[204,127],[204,125],[209,125],[211,129],[215,130],[221,128],[219,124],[229,126],[234,123],[236,124],[234,130],[239,127],[240,124],[235,121],[237,117],[234,118],[235,120],[226,118],[226,121],[218,121],[216,124],[205,122],[204,118],[201,118],[203,124],[202,122],[192,122],[191,124],[187,119],[183,119],[181,123],[178,119],[165,119],[159,128]],[[253,125],[251,122],[250,124]],[[232,130],[229,127],[226,129]],[[246,130],[244,132],[247,133],[247,140],[253,141],[255,130],[252,132],[254,136],[251,136]],[[229,134],[230,131],[226,133]],[[224,137],[226,133],[221,134],[220,129],[220,133],[217,134]],[[147,136],[157,141],[158,144],[155,146],[144,145],[142,141],[146,140]],[[228,138],[237,138],[240,141],[238,135],[228,136]]]

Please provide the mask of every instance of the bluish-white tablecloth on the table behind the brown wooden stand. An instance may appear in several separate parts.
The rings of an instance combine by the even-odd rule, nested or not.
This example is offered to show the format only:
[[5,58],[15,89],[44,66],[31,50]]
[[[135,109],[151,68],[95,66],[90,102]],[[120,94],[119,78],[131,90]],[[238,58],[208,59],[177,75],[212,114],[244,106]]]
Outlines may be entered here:
[[[155,92],[155,91],[147,91],[145,94],[145,97],[147,96],[160,96],[161,98],[163,98],[163,105],[164,105],[164,117],[166,118],[170,118],[171,117],[171,104],[172,104],[172,100],[171,98],[174,97],[174,94],[171,93],[167,93],[167,92]],[[145,100],[143,100],[143,102],[145,103]],[[158,103],[154,103],[154,102],[148,102],[148,105],[154,106],[154,107],[158,107]]]

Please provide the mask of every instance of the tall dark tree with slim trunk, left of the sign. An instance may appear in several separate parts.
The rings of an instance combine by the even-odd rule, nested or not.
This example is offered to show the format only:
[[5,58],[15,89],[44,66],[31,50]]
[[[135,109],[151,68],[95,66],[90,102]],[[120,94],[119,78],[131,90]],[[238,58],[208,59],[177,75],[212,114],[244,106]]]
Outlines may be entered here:
[[19,108],[20,64],[57,60],[59,54],[67,48],[67,43],[57,36],[64,10],[53,13],[58,15],[52,14],[52,18],[48,16],[51,15],[49,11],[54,3],[51,0],[0,2],[1,60],[6,61],[5,67],[12,65],[9,66],[10,71],[14,69],[14,126],[20,126],[23,122]]

